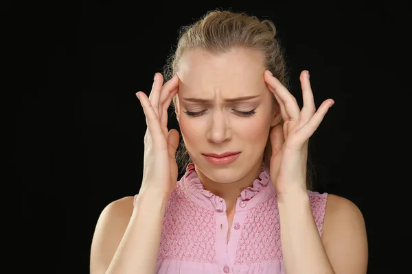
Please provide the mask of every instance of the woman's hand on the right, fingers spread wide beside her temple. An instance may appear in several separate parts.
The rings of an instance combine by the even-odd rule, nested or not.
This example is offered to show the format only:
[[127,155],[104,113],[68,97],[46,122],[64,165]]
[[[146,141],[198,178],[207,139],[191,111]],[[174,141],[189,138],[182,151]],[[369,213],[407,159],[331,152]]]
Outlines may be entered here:
[[302,71],[300,75],[304,99],[301,110],[295,97],[269,71],[264,73],[264,80],[279,103],[280,114],[284,121],[283,125],[276,125],[271,130],[272,183],[278,195],[296,191],[306,192],[308,140],[319,127],[334,101],[327,99],[316,110],[308,71]]

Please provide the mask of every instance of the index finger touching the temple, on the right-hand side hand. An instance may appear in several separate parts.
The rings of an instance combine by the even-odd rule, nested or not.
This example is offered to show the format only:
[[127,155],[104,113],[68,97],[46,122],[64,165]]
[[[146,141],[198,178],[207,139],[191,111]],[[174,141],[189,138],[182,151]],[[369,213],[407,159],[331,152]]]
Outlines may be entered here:
[[289,119],[297,121],[299,119],[300,109],[299,105],[297,105],[296,98],[291,95],[289,90],[287,90],[276,77],[273,77],[269,71],[264,73],[264,79],[266,84],[268,84],[269,90],[271,90],[273,94],[278,95],[279,99],[284,103]]

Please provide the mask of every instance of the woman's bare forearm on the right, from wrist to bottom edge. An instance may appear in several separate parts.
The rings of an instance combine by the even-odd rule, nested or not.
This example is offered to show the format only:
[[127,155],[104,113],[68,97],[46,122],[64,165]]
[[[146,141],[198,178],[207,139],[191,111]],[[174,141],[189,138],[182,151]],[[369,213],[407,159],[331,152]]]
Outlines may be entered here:
[[280,234],[286,273],[334,273],[314,221],[308,193],[278,195]]

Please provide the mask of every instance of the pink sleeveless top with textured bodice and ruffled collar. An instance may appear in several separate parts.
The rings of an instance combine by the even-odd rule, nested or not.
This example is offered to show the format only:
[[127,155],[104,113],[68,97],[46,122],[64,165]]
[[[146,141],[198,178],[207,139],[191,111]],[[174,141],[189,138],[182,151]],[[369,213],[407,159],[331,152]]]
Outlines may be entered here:
[[[308,195],[321,236],[328,194]],[[277,195],[263,169],[242,190],[228,226],[225,200],[205,190],[189,164],[168,199],[156,273],[284,274]]]

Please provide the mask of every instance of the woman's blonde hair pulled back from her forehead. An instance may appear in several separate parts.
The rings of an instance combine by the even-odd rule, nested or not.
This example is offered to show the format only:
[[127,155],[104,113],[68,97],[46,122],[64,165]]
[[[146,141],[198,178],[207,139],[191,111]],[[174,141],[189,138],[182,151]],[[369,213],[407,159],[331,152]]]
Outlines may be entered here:
[[[256,16],[244,12],[214,10],[207,12],[203,18],[181,29],[176,50],[164,68],[165,80],[172,78],[179,71],[179,62],[185,51],[201,49],[212,54],[225,53],[233,47],[256,49],[264,55],[266,69],[273,73],[288,88],[288,73],[284,51],[276,37],[276,27],[272,21],[260,21]],[[277,102],[273,97],[274,105]],[[176,105],[176,96],[173,98]],[[283,123],[283,121],[281,122]],[[268,169],[271,160],[271,143],[266,142],[262,164]],[[184,172],[187,164],[192,162],[187,153],[183,138],[176,153],[176,160]],[[307,180],[307,182],[310,182]],[[308,183],[308,188],[310,188]]]

